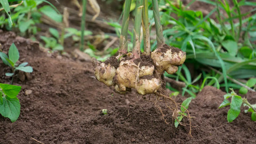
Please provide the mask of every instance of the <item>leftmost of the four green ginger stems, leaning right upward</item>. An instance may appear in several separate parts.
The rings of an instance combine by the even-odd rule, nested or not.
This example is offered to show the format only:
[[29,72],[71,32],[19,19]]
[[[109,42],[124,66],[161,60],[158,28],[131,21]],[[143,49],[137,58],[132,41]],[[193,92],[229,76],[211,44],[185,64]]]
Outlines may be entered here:
[[129,15],[130,15],[131,0],[126,0],[124,4],[124,15],[122,21],[122,29],[119,41],[119,56],[127,52],[127,34],[129,26]]

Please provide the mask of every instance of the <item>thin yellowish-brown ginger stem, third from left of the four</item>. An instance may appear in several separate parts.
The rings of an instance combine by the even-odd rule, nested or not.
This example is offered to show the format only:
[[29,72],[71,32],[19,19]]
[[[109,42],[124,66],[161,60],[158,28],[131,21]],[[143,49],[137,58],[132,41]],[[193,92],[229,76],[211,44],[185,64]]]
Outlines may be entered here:
[[143,0],[142,10],[142,29],[143,29],[143,42],[144,42],[144,53],[150,54],[150,35],[149,35],[149,21],[148,21],[148,1]]

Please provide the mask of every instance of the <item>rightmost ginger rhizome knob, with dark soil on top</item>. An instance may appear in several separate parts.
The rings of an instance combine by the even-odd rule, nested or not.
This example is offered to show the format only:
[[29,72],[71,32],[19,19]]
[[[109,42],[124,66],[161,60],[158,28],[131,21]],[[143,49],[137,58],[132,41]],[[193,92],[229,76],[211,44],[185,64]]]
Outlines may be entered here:
[[186,52],[163,44],[151,53],[151,58],[159,74],[162,74],[164,70],[169,74],[173,74],[178,70],[177,66],[182,65],[186,60]]

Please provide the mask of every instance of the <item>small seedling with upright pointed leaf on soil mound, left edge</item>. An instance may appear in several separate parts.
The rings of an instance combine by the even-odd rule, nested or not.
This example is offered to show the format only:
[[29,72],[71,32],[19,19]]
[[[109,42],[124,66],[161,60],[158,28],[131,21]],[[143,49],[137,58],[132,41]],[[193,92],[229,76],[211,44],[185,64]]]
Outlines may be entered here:
[[13,76],[15,71],[17,70],[24,71],[25,73],[33,72],[33,68],[30,66],[27,66],[28,62],[23,62],[19,66],[17,66],[16,62],[20,58],[20,53],[14,43],[12,43],[12,45],[10,46],[8,55],[9,57],[5,53],[0,52],[0,57],[3,60],[4,64],[12,68],[12,73],[5,73],[6,76]]

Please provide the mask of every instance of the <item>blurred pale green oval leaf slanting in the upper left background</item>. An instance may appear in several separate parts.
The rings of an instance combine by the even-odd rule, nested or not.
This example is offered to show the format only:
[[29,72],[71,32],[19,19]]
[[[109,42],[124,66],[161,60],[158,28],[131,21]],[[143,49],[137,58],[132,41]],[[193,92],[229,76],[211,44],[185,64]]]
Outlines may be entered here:
[[41,7],[39,11],[56,22],[62,22],[62,15],[57,13],[50,5]]

